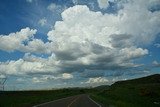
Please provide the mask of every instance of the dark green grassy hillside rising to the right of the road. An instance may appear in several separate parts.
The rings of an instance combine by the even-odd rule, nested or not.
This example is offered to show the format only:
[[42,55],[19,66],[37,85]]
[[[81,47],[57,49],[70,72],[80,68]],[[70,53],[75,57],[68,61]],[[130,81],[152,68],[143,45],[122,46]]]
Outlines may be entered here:
[[160,74],[118,81],[92,97],[107,107],[160,107]]

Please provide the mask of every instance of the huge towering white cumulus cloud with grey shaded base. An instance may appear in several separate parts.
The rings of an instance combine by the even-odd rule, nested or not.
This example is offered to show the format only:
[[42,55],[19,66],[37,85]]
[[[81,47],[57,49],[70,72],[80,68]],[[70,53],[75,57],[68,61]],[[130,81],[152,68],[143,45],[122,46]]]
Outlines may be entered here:
[[131,60],[148,54],[147,49],[135,43],[135,36],[139,35],[120,28],[124,25],[121,15],[103,15],[77,5],[65,10],[62,19],[48,33],[48,39],[57,45],[55,56],[64,65],[68,61],[70,66],[73,62],[86,69],[132,67],[135,65]]

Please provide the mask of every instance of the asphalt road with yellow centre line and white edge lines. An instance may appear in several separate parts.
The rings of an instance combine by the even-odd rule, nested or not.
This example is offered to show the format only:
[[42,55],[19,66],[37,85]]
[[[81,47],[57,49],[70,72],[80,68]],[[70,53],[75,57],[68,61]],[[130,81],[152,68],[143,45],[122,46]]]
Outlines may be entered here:
[[77,95],[39,104],[33,107],[101,107],[93,101],[88,95]]

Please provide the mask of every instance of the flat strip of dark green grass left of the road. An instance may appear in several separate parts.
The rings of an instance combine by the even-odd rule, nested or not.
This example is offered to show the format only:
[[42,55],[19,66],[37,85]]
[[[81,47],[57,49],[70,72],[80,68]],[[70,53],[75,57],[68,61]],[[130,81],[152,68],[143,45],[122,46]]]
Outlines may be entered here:
[[8,91],[0,93],[0,107],[32,107],[68,96],[82,94],[80,89],[61,89],[51,91]]

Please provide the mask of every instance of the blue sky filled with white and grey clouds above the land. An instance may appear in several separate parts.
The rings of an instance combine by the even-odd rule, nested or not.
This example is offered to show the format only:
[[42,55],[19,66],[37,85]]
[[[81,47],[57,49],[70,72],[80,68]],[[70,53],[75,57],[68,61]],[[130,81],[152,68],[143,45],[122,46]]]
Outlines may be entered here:
[[110,85],[160,73],[160,0],[0,0],[6,90]]

